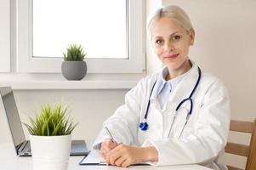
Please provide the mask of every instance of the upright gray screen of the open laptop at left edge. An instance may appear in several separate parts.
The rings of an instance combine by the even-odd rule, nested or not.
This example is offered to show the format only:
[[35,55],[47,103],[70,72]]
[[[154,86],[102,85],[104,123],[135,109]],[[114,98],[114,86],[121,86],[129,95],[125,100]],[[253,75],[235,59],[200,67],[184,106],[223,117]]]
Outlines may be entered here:
[[26,140],[20,122],[19,112],[15,103],[14,94],[10,87],[0,87],[0,94],[3,101],[1,112],[5,112],[15,146]]

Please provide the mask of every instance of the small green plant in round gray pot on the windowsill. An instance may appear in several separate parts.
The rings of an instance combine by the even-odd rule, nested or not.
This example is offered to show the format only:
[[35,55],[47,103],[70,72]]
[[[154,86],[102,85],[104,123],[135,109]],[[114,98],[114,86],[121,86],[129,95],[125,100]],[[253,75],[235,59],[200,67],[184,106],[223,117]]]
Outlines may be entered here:
[[83,60],[86,56],[81,45],[71,44],[66,48],[64,61],[61,65],[62,75],[67,80],[81,80],[87,72],[86,62]]

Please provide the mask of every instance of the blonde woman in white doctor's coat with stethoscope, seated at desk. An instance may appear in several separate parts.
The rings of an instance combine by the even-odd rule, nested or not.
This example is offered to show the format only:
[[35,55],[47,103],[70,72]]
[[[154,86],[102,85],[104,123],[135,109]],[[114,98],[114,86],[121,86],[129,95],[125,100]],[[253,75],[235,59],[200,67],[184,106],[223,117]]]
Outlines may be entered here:
[[230,122],[225,85],[188,58],[195,31],[185,11],[159,8],[148,20],[156,55],[165,68],[145,77],[125,104],[104,122],[94,149],[118,167],[198,163],[226,169],[224,147]]

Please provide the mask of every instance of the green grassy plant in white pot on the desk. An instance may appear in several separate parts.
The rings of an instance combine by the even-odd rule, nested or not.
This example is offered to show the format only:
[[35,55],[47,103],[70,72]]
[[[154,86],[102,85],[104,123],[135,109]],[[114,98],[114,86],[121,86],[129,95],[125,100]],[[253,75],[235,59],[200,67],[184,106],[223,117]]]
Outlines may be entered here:
[[71,151],[71,133],[77,124],[67,117],[67,107],[43,105],[40,115],[24,123],[30,133],[34,170],[66,170]]

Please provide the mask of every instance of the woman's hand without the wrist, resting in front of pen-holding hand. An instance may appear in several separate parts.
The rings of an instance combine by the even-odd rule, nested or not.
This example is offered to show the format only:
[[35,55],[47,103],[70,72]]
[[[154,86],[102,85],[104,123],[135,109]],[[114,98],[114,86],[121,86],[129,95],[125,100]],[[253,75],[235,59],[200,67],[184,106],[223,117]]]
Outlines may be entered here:
[[108,164],[118,167],[128,167],[131,164],[143,162],[144,157],[144,148],[126,144],[118,144],[105,156]]

